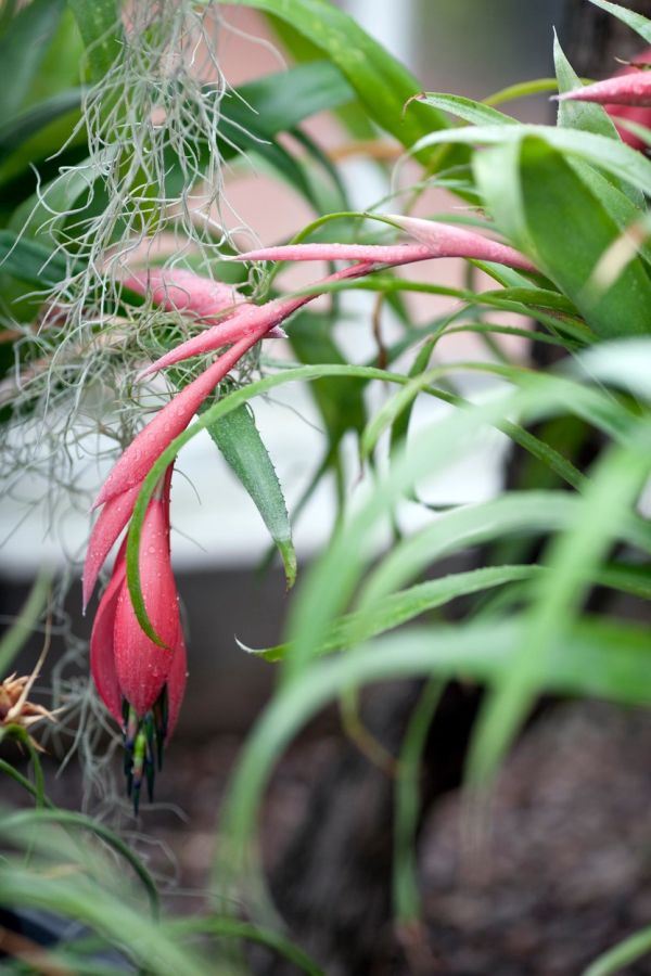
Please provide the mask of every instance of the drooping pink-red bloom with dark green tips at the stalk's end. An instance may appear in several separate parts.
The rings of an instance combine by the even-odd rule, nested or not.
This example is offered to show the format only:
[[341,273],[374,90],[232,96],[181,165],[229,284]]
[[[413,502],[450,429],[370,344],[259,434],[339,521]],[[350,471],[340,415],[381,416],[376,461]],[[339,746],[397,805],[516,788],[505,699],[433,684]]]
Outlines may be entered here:
[[143,779],[150,798],[163,746],[176,724],[186,688],[186,645],[169,550],[171,466],[142,524],[140,583],[162,645],[142,630],[127,586],[126,542],[100,601],[90,639],[90,668],[111,715],[125,733],[125,771],[138,809]]

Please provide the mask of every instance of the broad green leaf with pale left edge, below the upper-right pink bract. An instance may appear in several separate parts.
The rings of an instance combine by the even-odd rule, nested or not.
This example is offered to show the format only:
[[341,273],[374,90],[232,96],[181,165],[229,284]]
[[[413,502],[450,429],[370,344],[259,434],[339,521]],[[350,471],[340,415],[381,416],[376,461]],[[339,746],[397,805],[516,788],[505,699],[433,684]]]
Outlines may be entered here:
[[605,293],[589,287],[599,259],[620,233],[600,200],[541,139],[526,138],[516,163],[513,174],[501,159],[500,165],[492,156],[477,160],[477,181],[502,232],[533,257],[600,337],[650,332],[651,282],[639,259]]

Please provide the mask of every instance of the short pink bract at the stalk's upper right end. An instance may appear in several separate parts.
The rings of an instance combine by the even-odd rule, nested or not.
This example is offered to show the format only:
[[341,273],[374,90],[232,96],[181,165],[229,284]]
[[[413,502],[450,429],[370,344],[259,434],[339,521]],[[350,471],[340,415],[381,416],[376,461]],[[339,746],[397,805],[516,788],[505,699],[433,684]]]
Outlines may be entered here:
[[452,223],[441,223],[437,220],[403,217],[399,214],[386,214],[386,218],[425,245],[430,251],[430,257],[474,258],[478,261],[495,261],[521,271],[536,271],[528,258],[519,251],[498,241],[492,241],[490,237],[485,237],[476,231]]

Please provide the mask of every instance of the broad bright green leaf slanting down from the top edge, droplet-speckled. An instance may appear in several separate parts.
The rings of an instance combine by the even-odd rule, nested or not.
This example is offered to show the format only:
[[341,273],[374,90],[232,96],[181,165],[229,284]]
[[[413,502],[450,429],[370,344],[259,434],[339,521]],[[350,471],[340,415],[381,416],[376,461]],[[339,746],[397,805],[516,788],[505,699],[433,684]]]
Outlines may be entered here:
[[403,112],[419,93],[417,79],[329,0],[241,0],[241,5],[273,14],[310,40],[345,76],[369,116],[403,145],[445,125],[427,105]]

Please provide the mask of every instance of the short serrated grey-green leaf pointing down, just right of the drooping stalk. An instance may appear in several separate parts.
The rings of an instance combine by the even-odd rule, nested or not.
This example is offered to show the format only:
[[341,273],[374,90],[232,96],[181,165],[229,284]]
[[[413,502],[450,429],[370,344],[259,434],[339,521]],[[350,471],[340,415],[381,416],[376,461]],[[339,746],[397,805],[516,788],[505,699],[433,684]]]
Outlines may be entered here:
[[288,587],[292,587],[296,579],[292,526],[278,475],[252,412],[246,406],[239,407],[207,431],[263,516],[282,557]]

